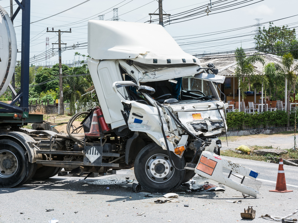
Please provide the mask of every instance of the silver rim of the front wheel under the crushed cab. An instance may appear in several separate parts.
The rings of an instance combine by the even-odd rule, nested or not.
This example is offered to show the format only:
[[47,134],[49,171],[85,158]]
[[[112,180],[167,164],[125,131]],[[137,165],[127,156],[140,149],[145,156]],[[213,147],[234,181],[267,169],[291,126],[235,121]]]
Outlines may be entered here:
[[156,183],[167,182],[172,178],[174,171],[169,157],[165,154],[154,154],[147,160],[145,166],[147,176]]

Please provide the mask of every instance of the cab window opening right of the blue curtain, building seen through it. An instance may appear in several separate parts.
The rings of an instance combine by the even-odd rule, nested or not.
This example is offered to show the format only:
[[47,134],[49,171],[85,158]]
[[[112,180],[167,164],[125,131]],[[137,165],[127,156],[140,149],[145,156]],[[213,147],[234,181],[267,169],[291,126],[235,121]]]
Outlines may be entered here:
[[213,85],[210,81],[191,77],[182,79],[182,95],[192,97],[192,99],[207,96],[202,98],[202,100],[209,100],[215,97]]

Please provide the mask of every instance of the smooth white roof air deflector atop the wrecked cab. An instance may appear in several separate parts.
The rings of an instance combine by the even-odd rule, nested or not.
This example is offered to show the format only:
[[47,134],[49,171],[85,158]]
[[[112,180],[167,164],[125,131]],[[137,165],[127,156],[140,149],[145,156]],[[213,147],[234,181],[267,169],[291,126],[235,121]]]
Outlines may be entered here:
[[95,60],[131,59],[143,64],[196,64],[158,24],[88,21],[88,53]]

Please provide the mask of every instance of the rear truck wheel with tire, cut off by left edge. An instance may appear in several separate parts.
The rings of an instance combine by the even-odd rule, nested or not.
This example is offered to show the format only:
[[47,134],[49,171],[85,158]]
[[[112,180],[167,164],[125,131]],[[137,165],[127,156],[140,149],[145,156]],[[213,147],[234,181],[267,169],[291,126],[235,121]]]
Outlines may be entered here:
[[12,140],[0,140],[0,188],[12,188],[26,182],[36,163],[30,163],[21,145]]

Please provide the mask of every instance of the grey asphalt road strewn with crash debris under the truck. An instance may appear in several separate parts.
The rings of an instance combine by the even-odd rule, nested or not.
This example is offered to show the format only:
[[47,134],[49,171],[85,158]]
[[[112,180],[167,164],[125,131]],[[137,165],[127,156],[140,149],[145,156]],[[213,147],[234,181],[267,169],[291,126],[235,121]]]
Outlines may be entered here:
[[[133,170],[117,171],[114,175],[86,180],[82,177],[55,176],[17,188],[0,189],[0,222],[39,223],[48,222],[53,217],[59,223],[245,222],[251,220],[241,219],[240,212],[248,206],[253,206],[256,210],[253,222],[271,222],[258,217],[261,214],[285,216],[297,209],[297,167],[284,165],[286,182],[293,185],[287,186],[288,190],[294,192],[274,193],[269,190],[275,189],[278,164],[226,158],[261,173],[259,179],[263,184],[260,196],[243,199],[233,197],[240,196],[241,193],[228,187],[224,187],[224,192],[188,192],[188,186],[180,186],[173,191],[180,195],[173,201],[179,202],[155,204],[155,200],[166,198],[143,189],[140,193],[134,193],[132,183],[125,182],[125,177],[135,178]],[[193,189],[204,185],[208,180],[197,175],[193,179],[196,180],[194,185],[190,185]],[[145,197],[147,194],[153,197]],[[242,200],[242,203],[227,203],[226,200]],[[189,207],[184,207],[184,204]],[[54,210],[46,212],[45,209]],[[141,216],[137,215],[143,212],[145,213]]]

